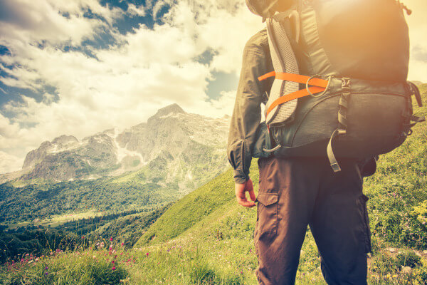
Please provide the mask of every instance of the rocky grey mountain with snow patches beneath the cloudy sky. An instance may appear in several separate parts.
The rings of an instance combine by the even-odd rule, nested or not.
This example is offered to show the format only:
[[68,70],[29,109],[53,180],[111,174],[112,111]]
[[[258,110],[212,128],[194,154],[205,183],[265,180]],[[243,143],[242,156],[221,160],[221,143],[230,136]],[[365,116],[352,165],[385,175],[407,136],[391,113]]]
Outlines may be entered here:
[[122,132],[112,128],[81,141],[73,135],[46,140],[27,153],[22,170],[0,175],[0,183],[88,180],[141,170],[147,182],[194,188],[227,167],[227,130],[228,117],[190,114],[173,104]]

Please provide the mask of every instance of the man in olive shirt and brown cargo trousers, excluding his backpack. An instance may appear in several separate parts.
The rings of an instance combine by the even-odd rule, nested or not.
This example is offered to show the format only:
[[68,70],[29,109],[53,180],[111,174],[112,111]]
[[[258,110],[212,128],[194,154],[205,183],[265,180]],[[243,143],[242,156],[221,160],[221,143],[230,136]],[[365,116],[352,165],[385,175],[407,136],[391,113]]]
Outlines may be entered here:
[[[280,11],[280,2],[275,9]],[[375,172],[375,160],[367,164],[340,160],[342,171],[334,173],[326,157],[260,158],[259,193],[255,197],[249,167],[260,126],[260,105],[273,82],[257,78],[273,70],[267,33],[259,31],[243,50],[227,150],[237,202],[243,207],[254,207],[258,202],[254,244],[259,284],[295,284],[307,225],[328,284],[367,284],[371,241],[368,197],[362,193],[362,182],[363,176]]]

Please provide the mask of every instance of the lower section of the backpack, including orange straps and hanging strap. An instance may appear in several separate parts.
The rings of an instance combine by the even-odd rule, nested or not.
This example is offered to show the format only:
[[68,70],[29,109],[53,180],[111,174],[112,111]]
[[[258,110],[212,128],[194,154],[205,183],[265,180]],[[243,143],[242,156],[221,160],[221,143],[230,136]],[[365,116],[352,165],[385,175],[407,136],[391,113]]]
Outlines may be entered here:
[[389,152],[411,135],[413,125],[424,120],[412,115],[411,95],[418,105],[422,104],[416,92],[418,88],[410,82],[302,76],[275,71],[258,80],[272,76],[300,83],[302,88],[270,103],[265,110],[267,114],[290,100],[300,98],[301,102],[294,120],[280,126],[267,124],[264,135],[268,136],[267,140],[272,139],[272,148],[264,147],[265,154],[258,157],[270,153],[279,157],[326,154],[332,170],[339,172],[337,157],[362,159]]

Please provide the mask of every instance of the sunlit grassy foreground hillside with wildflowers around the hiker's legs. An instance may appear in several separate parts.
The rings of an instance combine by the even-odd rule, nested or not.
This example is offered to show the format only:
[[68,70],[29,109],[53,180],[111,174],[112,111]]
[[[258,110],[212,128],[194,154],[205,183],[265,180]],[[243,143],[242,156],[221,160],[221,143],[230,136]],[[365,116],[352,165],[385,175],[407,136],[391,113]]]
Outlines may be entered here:
[[[421,92],[427,104],[426,84]],[[426,107],[414,108],[418,115],[427,114]],[[404,145],[381,155],[376,174],[365,179],[373,251],[369,284],[427,284],[426,142],[427,123],[416,125]],[[257,172],[253,161],[255,191]],[[27,284],[255,285],[255,219],[255,207],[236,203],[228,171],[172,204],[133,249],[120,248],[114,237],[108,242],[110,250],[94,246],[53,254],[33,265],[28,264],[29,259],[9,264],[0,269],[0,280],[4,284],[25,280]],[[83,267],[91,274],[81,274]],[[310,229],[302,247],[297,284],[325,284]]]

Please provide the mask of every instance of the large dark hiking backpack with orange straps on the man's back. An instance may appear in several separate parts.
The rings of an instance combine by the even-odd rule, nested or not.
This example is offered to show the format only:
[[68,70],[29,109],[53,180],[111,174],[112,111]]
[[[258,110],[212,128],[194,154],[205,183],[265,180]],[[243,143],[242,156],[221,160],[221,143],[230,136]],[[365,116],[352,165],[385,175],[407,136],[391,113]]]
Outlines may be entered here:
[[258,78],[275,80],[253,156],[327,156],[337,172],[339,157],[369,159],[401,145],[424,120],[412,113],[412,95],[420,106],[421,96],[406,81],[406,6],[288,0],[277,12],[274,2],[247,0],[266,19],[275,68]]

